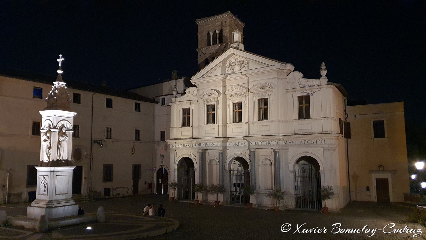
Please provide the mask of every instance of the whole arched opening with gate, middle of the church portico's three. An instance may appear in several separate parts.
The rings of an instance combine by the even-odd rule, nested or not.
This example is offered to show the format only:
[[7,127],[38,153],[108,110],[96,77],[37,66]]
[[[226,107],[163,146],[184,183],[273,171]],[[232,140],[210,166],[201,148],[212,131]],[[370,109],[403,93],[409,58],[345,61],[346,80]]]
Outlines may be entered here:
[[250,185],[250,170],[248,162],[238,156],[231,162],[230,178],[230,203],[249,203],[250,195],[245,195],[243,188]]

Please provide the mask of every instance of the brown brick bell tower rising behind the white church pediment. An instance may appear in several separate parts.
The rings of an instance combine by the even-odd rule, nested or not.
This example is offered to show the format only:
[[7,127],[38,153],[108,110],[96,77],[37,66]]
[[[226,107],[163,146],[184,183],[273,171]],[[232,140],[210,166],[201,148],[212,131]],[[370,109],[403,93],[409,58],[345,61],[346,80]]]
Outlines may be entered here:
[[244,49],[243,28],[245,24],[231,12],[197,19],[198,66],[204,68],[231,46]]

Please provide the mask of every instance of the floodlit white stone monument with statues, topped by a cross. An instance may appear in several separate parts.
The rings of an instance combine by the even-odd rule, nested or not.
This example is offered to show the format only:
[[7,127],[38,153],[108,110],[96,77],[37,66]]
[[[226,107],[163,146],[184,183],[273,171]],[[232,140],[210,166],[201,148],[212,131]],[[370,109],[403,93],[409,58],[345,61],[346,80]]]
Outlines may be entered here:
[[[15,226],[37,228],[42,219],[47,228],[94,220],[78,216],[78,205],[72,200],[72,122],[70,94],[62,81],[62,55],[59,55],[58,78],[53,82],[42,115],[40,163],[37,169],[37,194],[27,208],[26,218],[12,220]],[[38,229],[37,229],[38,231]]]

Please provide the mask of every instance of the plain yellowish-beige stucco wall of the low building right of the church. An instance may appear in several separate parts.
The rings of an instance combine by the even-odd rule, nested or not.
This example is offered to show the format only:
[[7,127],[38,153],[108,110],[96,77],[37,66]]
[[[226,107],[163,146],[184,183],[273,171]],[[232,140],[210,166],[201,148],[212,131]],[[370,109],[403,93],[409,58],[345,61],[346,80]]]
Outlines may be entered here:
[[[403,202],[409,192],[403,102],[348,106],[347,113],[351,200],[377,201],[375,178],[389,178],[391,201]],[[385,138],[373,137],[374,120],[385,121]]]

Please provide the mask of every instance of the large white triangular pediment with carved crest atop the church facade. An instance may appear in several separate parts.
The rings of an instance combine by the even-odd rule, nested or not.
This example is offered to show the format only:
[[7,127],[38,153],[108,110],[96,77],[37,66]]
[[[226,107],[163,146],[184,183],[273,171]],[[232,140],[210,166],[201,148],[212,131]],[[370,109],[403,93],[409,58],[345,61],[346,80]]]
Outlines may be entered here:
[[206,78],[216,75],[230,75],[237,72],[245,72],[252,69],[285,65],[241,49],[230,48],[214,59],[210,64],[197,72],[191,79]]

